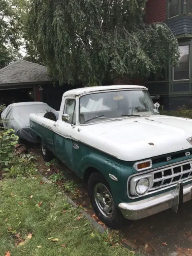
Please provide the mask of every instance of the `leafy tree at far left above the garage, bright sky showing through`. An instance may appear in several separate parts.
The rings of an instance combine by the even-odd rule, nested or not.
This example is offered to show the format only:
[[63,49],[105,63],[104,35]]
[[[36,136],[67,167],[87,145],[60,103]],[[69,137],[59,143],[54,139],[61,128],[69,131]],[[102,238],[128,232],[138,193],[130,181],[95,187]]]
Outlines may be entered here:
[[0,0],[0,68],[20,56],[22,27],[19,0]]

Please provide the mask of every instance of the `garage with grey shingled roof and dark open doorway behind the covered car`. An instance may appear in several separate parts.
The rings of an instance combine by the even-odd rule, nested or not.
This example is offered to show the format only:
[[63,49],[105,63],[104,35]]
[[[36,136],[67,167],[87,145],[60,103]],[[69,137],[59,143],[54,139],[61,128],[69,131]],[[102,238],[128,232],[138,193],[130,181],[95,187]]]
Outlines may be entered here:
[[0,105],[42,101],[42,86],[50,84],[45,66],[17,60],[0,69]]

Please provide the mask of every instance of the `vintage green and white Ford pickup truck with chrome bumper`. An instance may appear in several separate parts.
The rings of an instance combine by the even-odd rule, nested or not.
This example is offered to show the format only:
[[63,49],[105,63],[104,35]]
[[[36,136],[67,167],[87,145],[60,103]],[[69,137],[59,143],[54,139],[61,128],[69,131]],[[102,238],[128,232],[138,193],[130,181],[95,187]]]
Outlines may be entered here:
[[107,226],[178,212],[192,199],[192,120],[162,116],[158,106],[143,86],[98,86],[65,92],[58,117],[30,114],[44,158],[88,181]]

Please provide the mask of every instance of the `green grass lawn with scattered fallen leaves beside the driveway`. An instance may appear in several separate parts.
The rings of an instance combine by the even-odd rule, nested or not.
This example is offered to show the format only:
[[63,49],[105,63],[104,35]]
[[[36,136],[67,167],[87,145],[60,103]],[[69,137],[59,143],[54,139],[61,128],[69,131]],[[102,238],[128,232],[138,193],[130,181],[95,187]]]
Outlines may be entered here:
[[[116,240],[110,238],[116,246],[106,242],[107,231],[101,235],[78,216],[79,210],[66,203],[54,184],[40,184],[39,178],[0,181],[0,255],[8,251],[10,256],[131,255]],[[16,245],[29,234],[32,237],[23,245]]]

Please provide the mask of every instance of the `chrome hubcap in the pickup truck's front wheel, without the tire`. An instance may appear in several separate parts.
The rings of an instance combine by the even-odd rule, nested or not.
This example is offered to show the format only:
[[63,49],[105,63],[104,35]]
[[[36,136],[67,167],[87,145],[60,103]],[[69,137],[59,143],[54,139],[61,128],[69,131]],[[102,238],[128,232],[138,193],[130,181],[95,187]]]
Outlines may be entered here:
[[94,187],[94,198],[100,212],[110,218],[114,214],[114,201],[108,188],[101,183]]

